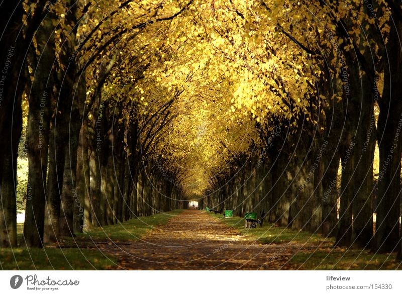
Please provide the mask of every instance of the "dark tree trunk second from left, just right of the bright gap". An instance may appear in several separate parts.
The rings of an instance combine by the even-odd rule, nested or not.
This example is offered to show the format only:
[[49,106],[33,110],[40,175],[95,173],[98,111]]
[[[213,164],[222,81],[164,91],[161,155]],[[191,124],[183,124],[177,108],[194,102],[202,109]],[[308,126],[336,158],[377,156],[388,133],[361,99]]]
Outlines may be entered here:
[[[54,16],[49,14],[49,16]],[[46,178],[50,132],[51,97],[53,93],[52,65],[55,59],[55,42],[52,19],[44,20],[38,36],[47,43],[38,42],[36,56],[31,48],[34,77],[29,93],[28,112],[28,187],[23,242],[28,247],[42,247],[46,203]]]

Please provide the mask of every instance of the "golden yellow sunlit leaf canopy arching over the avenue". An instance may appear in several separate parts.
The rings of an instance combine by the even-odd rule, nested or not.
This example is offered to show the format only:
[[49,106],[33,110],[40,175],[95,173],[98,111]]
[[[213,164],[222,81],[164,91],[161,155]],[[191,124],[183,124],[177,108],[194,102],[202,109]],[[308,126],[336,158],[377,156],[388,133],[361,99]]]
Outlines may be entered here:
[[[276,121],[294,130],[302,118],[316,124],[319,101],[342,96],[320,97],[317,81],[339,79],[342,54],[355,50],[354,44],[367,54],[372,44],[360,40],[361,30],[378,23],[389,31],[385,11],[374,21],[357,1],[194,0],[181,15],[157,21],[186,3],[90,5],[78,27],[85,43],[77,46],[77,62],[91,61],[87,103],[108,66],[113,68],[103,99],[119,102],[126,124],[138,122],[145,133],[154,128],[147,120],[172,100],[169,124],[158,130],[149,153],[163,154],[183,183],[197,184],[187,185],[187,193],[200,193],[201,183],[250,142],[258,143],[257,125],[270,128]],[[346,24],[349,38],[339,36],[337,18],[352,20]],[[372,48],[374,54],[379,50]]]

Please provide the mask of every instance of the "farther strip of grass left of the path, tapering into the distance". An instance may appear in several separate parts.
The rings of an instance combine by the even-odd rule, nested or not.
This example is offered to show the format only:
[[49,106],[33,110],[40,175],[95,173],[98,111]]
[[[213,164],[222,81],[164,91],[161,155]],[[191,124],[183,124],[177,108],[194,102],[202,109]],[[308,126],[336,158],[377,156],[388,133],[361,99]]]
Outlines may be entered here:
[[141,239],[144,234],[155,227],[165,225],[167,221],[179,215],[183,210],[173,210],[147,217],[131,219],[117,225],[108,225],[79,234],[78,239],[92,238],[96,240],[133,241]]

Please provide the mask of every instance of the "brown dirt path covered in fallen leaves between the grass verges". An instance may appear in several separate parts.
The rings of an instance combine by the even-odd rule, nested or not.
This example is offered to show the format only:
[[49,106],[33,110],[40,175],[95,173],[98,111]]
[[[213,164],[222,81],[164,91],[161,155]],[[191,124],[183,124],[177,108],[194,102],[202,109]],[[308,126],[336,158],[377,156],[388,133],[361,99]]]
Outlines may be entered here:
[[142,241],[98,247],[117,255],[120,269],[290,269],[292,255],[283,245],[253,244],[198,210],[173,217]]

